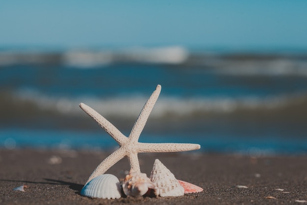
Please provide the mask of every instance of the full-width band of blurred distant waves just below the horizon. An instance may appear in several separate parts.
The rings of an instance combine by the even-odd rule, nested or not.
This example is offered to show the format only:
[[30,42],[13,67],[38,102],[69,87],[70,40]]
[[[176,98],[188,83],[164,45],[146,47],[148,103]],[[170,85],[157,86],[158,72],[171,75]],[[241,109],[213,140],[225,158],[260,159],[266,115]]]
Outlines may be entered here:
[[163,64],[173,68],[203,68],[204,72],[238,76],[307,76],[307,54],[193,52],[181,46],[100,50],[0,51],[0,67],[58,65],[73,69],[105,68],[110,64]]

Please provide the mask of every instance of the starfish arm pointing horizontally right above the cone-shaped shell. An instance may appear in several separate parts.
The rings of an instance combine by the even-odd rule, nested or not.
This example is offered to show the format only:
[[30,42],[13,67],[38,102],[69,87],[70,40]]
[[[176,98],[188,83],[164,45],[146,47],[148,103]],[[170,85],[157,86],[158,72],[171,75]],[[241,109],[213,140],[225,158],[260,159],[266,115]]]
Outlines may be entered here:
[[198,144],[188,143],[138,143],[139,152],[176,152],[200,149]]

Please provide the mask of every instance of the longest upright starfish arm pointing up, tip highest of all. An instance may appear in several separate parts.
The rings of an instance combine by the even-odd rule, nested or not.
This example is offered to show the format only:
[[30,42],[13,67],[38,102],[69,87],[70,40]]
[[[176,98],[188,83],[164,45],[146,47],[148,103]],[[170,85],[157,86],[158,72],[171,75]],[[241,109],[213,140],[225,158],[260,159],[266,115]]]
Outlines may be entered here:
[[129,135],[129,140],[137,142],[140,134],[146,124],[146,121],[150,115],[150,113],[153,110],[153,106],[156,102],[156,100],[159,97],[161,91],[161,86],[157,85],[156,89],[153,91],[153,94],[150,96],[150,98],[147,100],[146,104],[144,105],[139,117],[137,118],[131,133]]

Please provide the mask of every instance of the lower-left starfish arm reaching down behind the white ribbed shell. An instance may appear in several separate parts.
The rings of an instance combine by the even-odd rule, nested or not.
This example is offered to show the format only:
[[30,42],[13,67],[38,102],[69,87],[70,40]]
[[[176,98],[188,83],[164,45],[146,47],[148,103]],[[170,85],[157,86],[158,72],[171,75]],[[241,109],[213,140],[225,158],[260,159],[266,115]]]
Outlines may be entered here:
[[90,180],[95,178],[96,176],[103,175],[110,167],[112,167],[116,162],[123,159],[126,156],[126,152],[124,149],[119,148],[116,151],[114,151],[111,155],[109,155],[107,158],[105,158],[102,163],[100,163],[94,172],[91,174],[91,176],[87,179],[86,185]]

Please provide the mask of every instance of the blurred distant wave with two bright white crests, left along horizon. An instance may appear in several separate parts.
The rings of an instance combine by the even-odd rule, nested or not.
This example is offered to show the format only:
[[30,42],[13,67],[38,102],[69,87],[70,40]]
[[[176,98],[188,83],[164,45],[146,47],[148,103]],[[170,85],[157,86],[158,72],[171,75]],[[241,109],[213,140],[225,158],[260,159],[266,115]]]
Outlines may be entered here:
[[181,46],[133,47],[120,50],[0,51],[0,66],[16,64],[64,64],[75,68],[96,68],[111,63],[180,64],[189,52]]

